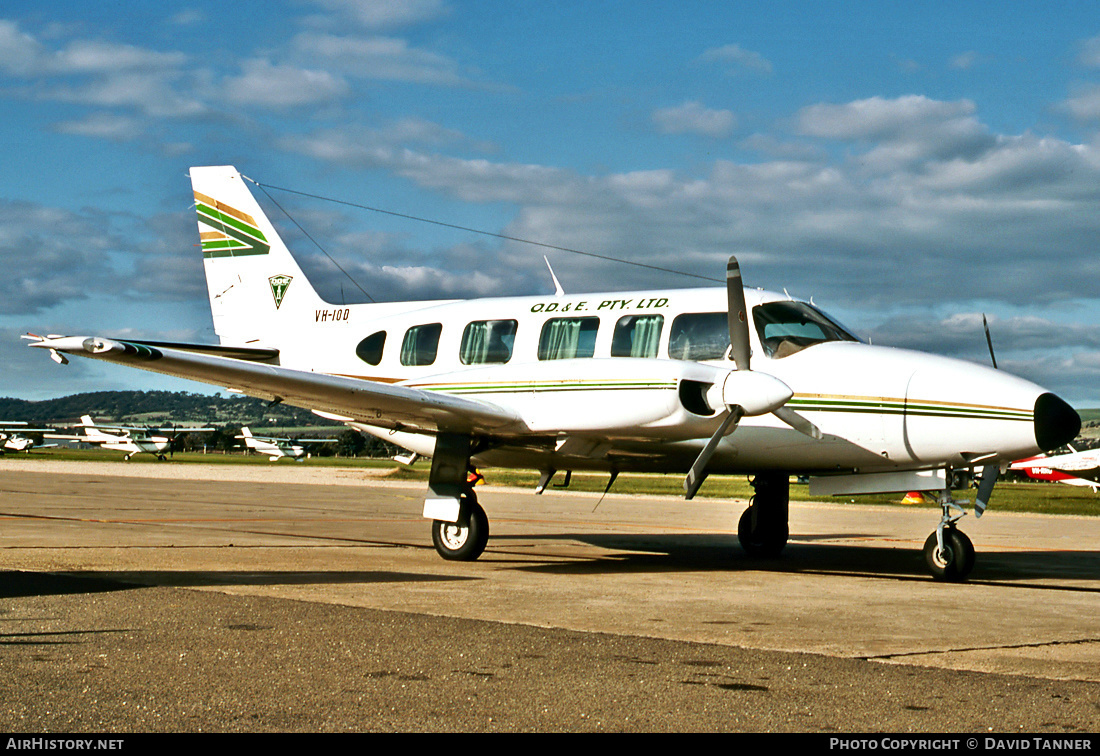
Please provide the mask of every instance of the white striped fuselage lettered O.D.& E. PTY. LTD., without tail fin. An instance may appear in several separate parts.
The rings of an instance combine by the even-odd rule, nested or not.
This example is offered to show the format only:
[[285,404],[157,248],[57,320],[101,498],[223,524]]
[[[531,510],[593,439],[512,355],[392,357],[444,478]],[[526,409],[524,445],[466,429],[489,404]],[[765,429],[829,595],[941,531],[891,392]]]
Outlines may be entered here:
[[[788,406],[816,424],[823,438],[771,415],[748,417],[721,443],[714,472],[1009,462],[1072,425],[1072,410],[1031,382],[970,362],[870,346],[842,327],[825,335],[822,326],[836,324],[827,316],[822,326],[799,320],[820,314],[804,303],[762,291],[746,297],[754,371],[790,386]],[[794,321],[773,322],[768,309],[777,306],[788,320],[785,310],[798,307]],[[522,432],[502,428],[476,457],[485,464],[683,471],[724,415],[718,394],[734,368],[721,288],[332,309],[339,315],[306,314],[302,330],[311,338],[282,335],[280,364],[513,409]],[[483,332],[472,335],[475,329]],[[631,349],[636,357],[625,355]],[[377,425],[356,427],[425,456],[435,445],[408,424],[387,424],[381,412]],[[521,438],[513,441],[516,436]]]

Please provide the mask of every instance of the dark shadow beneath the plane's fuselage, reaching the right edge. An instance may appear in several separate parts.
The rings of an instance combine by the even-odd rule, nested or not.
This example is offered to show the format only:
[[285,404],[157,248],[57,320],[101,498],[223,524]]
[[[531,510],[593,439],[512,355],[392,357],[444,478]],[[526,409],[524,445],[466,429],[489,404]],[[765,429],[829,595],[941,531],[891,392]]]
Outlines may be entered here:
[[[521,540],[576,540],[607,549],[597,559],[578,559],[552,563],[527,565],[519,569],[548,573],[613,573],[624,571],[726,570],[765,572],[806,572],[815,574],[858,576],[889,580],[931,580],[919,548],[882,548],[851,544],[812,541],[859,538],[850,533],[843,536],[792,536],[783,554],[771,559],[751,558],[738,547],[736,539],[714,535],[592,535],[572,534],[527,536]],[[507,550],[508,538],[494,543]],[[618,554],[616,554],[618,552]],[[1096,581],[1096,585],[1042,585],[1026,588],[1089,591],[1100,593],[1100,551],[983,551],[968,582],[1018,583],[1026,580]]]

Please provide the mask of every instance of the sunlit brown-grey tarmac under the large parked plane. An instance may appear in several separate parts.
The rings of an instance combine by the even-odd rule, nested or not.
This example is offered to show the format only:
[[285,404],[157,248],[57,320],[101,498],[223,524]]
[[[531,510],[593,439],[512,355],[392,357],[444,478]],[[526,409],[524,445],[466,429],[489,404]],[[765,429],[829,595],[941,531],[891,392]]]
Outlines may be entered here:
[[[1100,731],[1100,517],[963,526],[482,486],[476,562],[362,470],[0,460],[0,731]],[[1096,738],[1086,738],[1092,749]],[[979,743],[980,745],[980,743]]]

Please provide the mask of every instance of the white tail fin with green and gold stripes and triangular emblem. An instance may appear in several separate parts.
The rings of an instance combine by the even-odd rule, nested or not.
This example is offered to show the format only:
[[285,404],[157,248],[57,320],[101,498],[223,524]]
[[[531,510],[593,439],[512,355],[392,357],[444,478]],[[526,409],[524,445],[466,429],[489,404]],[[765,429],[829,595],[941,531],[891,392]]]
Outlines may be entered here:
[[215,332],[223,344],[277,347],[278,333],[326,303],[237,168],[193,167],[190,175]]

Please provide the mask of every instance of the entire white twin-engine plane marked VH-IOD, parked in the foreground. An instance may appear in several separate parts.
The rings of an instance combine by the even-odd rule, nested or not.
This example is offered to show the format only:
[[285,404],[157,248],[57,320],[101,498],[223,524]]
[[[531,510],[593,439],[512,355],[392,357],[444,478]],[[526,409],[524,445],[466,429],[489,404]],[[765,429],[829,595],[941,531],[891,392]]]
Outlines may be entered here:
[[[302,275],[241,175],[191,168],[219,346],[33,337],[79,354],[308,407],[432,459],[425,516],[444,559],[488,538],[468,471],[755,475],[738,536],[788,540],[789,480],[815,494],[935,491],[932,573],[961,580],[978,516],[1012,460],[1070,441],[1077,413],[1003,372],[872,347],[812,305],[726,288],[332,305]],[[751,364],[750,364],[751,362]],[[735,432],[736,431],[736,432]],[[979,471],[980,472],[977,472]]]

